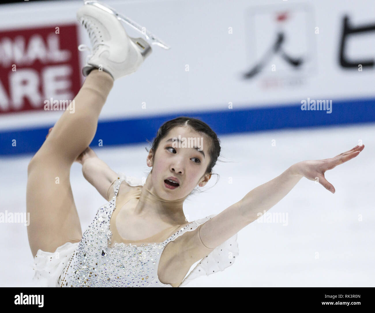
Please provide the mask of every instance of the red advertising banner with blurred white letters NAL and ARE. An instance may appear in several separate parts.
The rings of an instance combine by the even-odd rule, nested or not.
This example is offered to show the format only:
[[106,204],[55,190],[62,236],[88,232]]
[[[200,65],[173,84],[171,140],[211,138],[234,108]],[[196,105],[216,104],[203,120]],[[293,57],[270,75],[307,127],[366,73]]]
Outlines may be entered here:
[[80,89],[77,25],[0,31],[0,114],[43,110]]

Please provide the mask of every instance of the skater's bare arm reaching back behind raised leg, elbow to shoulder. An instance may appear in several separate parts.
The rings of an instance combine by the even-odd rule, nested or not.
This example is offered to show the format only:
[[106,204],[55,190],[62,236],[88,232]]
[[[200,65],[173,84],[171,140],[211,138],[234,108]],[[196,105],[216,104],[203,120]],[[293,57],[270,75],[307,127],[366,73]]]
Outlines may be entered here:
[[83,162],[83,176],[92,184],[96,190],[109,201],[109,189],[117,180],[117,173],[114,172],[104,161],[98,157],[90,157]]

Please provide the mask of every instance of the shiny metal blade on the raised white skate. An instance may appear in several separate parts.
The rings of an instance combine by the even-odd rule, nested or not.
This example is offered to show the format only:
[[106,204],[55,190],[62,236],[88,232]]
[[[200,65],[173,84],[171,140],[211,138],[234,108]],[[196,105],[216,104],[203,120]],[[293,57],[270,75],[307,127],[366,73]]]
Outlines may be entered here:
[[132,21],[127,16],[124,16],[124,15],[121,15],[121,14],[117,13],[115,9],[109,7],[107,4],[101,3],[101,2],[96,1],[96,0],[85,1],[85,4],[90,4],[90,5],[99,7],[100,9],[102,9],[102,10],[108,12],[108,13],[113,14],[114,16],[116,16],[117,19],[119,19],[120,21],[123,21],[127,25],[133,27],[136,31],[138,31],[143,36],[145,36],[146,39],[151,40],[151,45],[157,45],[157,46],[162,47],[166,50],[171,48],[165,42],[163,42],[163,40],[159,39],[156,35],[154,35],[150,31],[148,31],[146,29],[146,27],[143,27],[143,26],[139,25],[138,23]]

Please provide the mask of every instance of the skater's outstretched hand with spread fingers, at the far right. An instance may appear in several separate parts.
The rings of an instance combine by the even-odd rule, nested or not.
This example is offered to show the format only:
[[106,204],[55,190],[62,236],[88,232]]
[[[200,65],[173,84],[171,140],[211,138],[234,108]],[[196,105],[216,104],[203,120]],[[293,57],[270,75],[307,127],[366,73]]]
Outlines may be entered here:
[[357,145],[353,149],[340,153],[331,159],[302,161],[292,165],[292,167],[295,174],[302,175],[309,180],[317,180],[327,190],[335,193],[335,188],[326,180],[324,173],[329,169],[335,168],[337,165],[353,159],[363,148],[365,148],[365,145]]

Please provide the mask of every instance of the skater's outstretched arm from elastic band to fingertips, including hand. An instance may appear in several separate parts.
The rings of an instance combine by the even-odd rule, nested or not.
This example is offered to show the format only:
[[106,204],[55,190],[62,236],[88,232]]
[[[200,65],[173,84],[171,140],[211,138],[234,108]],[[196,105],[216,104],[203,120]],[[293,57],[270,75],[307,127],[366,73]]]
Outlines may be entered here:
[[251,190],[239,202],[202,224],[199,228],[202,243],[214,249],[233,237],[284,198],[302,177],[317,181],[327,190],[335,193],[332,184],[324,177],[324,172],[353,159],[364,147],[364,145],[354,147],[331,159],[308,160],[292,165],[278,177]]

